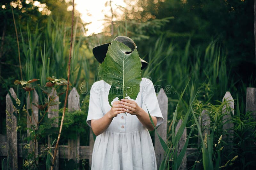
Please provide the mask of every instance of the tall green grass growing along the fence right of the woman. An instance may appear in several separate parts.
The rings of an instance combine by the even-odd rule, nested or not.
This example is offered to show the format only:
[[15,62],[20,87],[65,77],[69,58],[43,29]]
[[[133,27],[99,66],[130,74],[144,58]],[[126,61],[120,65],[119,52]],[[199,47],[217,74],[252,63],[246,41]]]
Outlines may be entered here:
[[[169,152],[169,155],[166,155],[161,168],[168,168],[168,159],[170,158],[173,160],[172,168],[176,169],[180,166],[180,162],[177,161],[179,155],[177,155],[175,149],[174,151],[171,149],[177,147],[179,141],[179,138],[173,132],[175,121],[180,118],[183,119],[185,126],[196,128],[194,132],[192,132],[192,128],[188,130],[188,139],[191,135],[190,132],[192,132],[192,136],[197,136],[199,132],[199,138],[202,144],[198,148],[198,151],[202,149],[202,152],[198,154],[199,165],[201,164],[204,169],[219,169],[221,166],[222,168],[232,167],[232,164],[235,163],[233,157],[238,155],[239,158],[241,156],[241,152],[239,152],[240,155],[237,154],[241,148],[234,143],[232,145],[237,146],[236,151],[227,153],[220,150],[221,145],[215,147],[216,140],[218,143],[220,135],[227,133],[221,130],[223,126],[222,117],[225,115],[222,114],[222,108],[227,103],[219,102],[219,100],[222,99],[226,91],[230,91],[233,97],[241,96],[239,98],[240,100],[236,101],[236,114],[240,115],[240,112],[244,112],[245,109],[243,96],[246,93],[246,86],[243,85],[239,90],[236,89],[235,85],[237,81],[234,81],[233,76],[230,75],[232,68],[227,65],[226,54],[221,50],[221,46],[217,41],[212,41],[205,49],[200,49],[200,46],[191,46],[191,42],[188,40],[186,46],[180,49],[173,42],[169,42],[168,39],[163,37],[164,35],[160,36],[155,41],[154,46],[148,48],[148,51],[144,50],[144,59],[149,61],[149,65],[142,72],[143,76],[151,77],[156,86],[161,85],[164,88],[167,85],[172,86],[171,93],[167,94],[169,98],[168,120],[170,121],[168,122],[170,127],[169,133],[167,134],[169,136],[169,150],[166,152]],[[185,83],[189,79],[191,81],[187,85],[185,94],[183,94],[184,91],[182,89],[184,89]],[[180,91],[182,91],[181,94],[179,93]],[[170,92],[170,89],[168,92]],[[186,97],[182,98],[183,95]],[[205,134],[202,134],[197,121],[203,108],[209,112],[212,122],[209,129],[211,133],[206,137],[204,136]],[[238,121],[240,119],[236,120]],[[251,122],[250,124],[253,123]],[[179,131],[183,132],[182,129]],[[240,131],[239,133],[242,132]],[[237,138],[236,135],[235,132],[234,138]],[[205,147],[205,141],[208,147]],[[189,146],[197,147],[197,145],[197,137],[192,137]],[[229,144],[223,141],[222,145],[228,147]],[[166,146],[163,148],[165,150]],[[181,159],[182,157],[180,155]],[[225,166],[225,163],[228,161],[229,163]],[[230,162],[232,163],[230,164]],[[196,163],[193,168],[195,167],[197,167]]]

